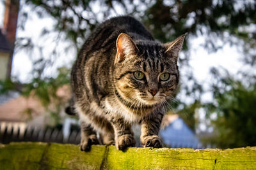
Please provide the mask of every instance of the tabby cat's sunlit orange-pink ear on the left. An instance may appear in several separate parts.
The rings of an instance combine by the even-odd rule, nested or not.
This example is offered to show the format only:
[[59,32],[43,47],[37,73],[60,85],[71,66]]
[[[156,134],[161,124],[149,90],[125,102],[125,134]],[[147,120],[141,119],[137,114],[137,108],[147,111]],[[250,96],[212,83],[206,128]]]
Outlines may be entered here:
[[127,34],[121,33],[116,39],[116,62],[122,62],[125,57],[134,55],[139,52],[138,47],[134,41]]

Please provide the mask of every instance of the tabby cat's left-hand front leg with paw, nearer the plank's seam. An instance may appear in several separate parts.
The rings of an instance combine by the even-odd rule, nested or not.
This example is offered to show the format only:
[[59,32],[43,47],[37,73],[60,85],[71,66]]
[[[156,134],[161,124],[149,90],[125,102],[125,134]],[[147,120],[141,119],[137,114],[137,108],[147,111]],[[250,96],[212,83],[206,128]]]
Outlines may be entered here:
[[115,131],[115,145],[118,150],[125,150],[135,146],[136,141],[133,137],[131,124],[124,121],[124,118],[115,117],[111,119],[111,124]]

